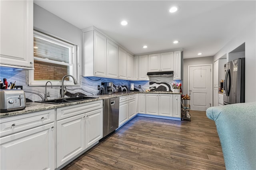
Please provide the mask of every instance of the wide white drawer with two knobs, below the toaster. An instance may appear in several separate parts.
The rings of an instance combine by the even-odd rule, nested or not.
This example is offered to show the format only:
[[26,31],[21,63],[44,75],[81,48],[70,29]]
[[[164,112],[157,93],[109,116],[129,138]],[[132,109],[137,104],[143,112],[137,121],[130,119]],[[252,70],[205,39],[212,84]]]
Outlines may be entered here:
[[54,122],[54,109],[1,119],[0,136]]

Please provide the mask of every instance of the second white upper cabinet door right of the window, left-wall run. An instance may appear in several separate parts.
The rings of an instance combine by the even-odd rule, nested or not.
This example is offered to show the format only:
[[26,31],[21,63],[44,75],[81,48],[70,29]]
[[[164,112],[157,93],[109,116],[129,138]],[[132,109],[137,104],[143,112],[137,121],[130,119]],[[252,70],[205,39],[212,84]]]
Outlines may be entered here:
[[118,45],[107,40],[106,76],[118,78]]

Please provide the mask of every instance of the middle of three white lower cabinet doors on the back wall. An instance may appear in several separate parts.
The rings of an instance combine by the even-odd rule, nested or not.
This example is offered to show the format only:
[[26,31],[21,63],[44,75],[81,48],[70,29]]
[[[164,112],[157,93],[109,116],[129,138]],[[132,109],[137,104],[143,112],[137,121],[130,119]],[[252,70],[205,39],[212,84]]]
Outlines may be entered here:
[[168,94],[159,94],[159,115],[173,117],[173,96]]

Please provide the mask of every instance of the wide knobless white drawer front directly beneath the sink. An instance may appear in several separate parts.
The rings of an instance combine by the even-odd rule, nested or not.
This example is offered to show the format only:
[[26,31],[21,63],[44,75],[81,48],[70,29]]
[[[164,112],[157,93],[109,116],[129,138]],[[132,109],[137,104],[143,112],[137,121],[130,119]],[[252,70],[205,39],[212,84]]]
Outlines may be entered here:
[[67,107],[61,107],[57,109],[57,121],[60,119],[65,119],[75,115],[80,115],[82,113],[94,111],[103,107],[102,100],[92,101],[88,103],[83,103],[80,105],[72,105]]

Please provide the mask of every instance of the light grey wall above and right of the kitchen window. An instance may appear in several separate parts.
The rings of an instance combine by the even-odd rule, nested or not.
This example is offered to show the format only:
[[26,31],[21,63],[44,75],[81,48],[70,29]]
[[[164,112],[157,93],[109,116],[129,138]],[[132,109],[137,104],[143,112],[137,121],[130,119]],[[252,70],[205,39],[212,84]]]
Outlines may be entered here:
[[79,55],[77,65],[79,74],[82,75],[82,65],[80,65],[82,63],[82,30],[36,4],[34,4],[34,29],[77,45]]

